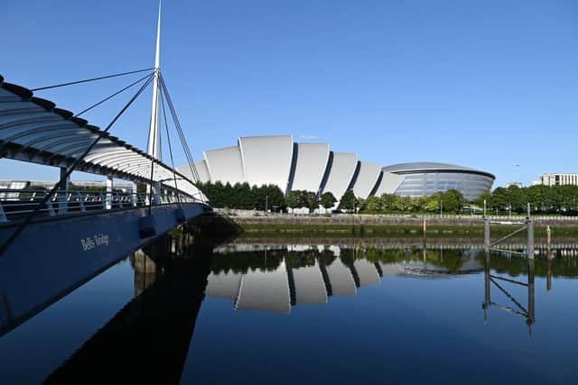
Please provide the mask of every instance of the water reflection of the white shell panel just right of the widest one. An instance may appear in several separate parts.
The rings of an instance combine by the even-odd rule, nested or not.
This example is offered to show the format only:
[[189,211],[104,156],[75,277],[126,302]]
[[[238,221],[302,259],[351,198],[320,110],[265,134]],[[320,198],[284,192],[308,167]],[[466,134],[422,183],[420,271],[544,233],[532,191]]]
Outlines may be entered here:
[[324,304],[327,302],[327,290],[323,282],[322,270],[315,261],[314,266],[305,266],[293,270],[295,284],[295,304]]

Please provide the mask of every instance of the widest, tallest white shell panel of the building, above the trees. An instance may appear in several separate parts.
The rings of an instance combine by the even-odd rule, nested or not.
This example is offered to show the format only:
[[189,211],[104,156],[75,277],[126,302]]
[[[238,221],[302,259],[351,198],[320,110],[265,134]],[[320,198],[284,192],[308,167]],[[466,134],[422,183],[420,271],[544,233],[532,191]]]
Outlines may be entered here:
[[238,145],[247,182],[251,186],[274,184],[285,192],[293,159],[293,137],[247,136],[239,138]]

